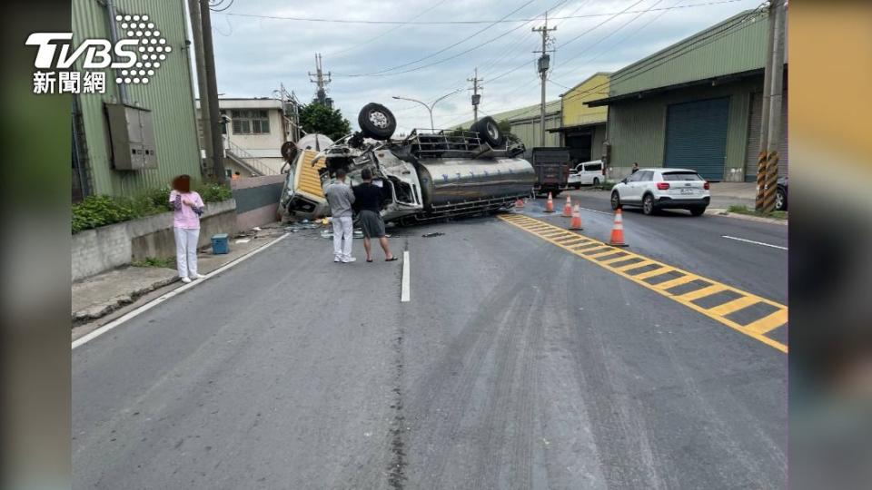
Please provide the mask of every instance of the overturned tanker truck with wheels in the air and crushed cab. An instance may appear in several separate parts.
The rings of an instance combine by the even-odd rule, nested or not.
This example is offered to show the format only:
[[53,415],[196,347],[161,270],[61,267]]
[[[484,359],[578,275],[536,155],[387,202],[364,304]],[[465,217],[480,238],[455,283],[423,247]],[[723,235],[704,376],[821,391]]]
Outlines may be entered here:
[[391,139],[397,123],[378,103],[368,103],[354,132],[323,148],[299,148],[286,143],[282,154],[290,163],[280,210],[298,219],[330,214],[323,187],[344,169],[347,182],[361,183],[361,171],[372,170],[385,203],[381,216],[401,225],[509,209],[530,196],[535,173],[519,158],[523,143],[507,138],[497,123],[485,117],[460,130],[412,130]]

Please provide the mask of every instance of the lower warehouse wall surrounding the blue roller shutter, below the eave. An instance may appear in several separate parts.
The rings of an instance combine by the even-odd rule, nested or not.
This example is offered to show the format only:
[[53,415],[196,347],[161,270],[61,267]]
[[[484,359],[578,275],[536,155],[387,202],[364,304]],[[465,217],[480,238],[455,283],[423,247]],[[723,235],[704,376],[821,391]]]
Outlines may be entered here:
[[633,162],[639,162],[640,167],[663,166],[669,104],[727,96],[730,101],[724,180],[743,181],[750,97],[751,93],[762,90],[762,85],[763,77],[755,76],[738,83],[681,89],[627,103],[611,104],[609,167],[613,173],[609,174],[609,178],[623,178],[629,174]]

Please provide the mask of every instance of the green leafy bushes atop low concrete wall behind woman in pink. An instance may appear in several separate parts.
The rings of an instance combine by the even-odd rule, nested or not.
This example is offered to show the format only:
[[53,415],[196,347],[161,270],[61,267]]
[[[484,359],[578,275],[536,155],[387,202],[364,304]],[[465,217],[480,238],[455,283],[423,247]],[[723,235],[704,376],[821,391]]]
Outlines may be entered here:
[[[73,233],[173,211],[170,187],[149,189],[133,198],[88,196],[73,205]],[[203,202],[227,201],[233,197],[229,187],[217,183],[201,184],[196,189]]]

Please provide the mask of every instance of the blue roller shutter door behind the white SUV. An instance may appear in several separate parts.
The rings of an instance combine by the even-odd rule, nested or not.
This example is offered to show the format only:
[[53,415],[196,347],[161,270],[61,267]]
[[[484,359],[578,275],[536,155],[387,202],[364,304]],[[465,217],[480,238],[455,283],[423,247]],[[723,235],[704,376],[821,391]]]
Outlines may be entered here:
[[664,167],[693,169],[703,178],[724,178],[729,98],[669,105]]

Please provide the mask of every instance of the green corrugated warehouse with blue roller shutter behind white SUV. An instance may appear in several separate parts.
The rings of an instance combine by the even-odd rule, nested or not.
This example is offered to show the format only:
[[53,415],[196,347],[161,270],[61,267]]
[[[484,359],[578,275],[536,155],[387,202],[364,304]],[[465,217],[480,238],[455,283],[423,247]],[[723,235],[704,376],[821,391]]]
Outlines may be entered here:
[[[609,97],[587,103],[609,106],[609,178],[639,162],[696,169],[712,181],[755,180],[767,34],[768,14],[746,11],[613,73]],[[787,71],[784,96],[782,174]]]

